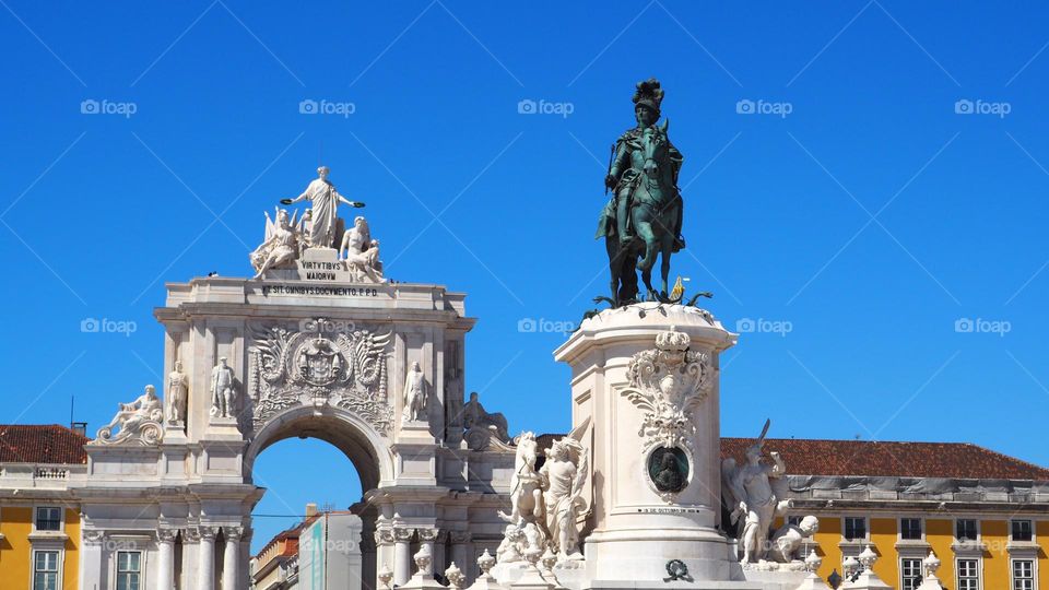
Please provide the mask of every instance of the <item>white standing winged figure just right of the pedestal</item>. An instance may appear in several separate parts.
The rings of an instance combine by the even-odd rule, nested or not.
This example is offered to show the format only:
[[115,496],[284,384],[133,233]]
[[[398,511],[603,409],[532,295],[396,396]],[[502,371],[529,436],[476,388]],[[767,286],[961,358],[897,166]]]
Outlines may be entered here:
[[[743,531],[740,534],[740,546],[743,551],[740,563],[754,564],[765,559],[769,529],[778,514],[790,508],[788,499],[780,489],[774,491],[771,481],[783,482],[781,477],[787,472],[778,452],[770,452],[773,464],[762,463],[762,448],[765,445],[765,435],[768,434],[769,421],[765,421],[765,428],[757,441],[746,449],[746,463],[736,465],[735,460],[727,458],[721,464],[721,479],[724,498],[730,507],[730,520],[734,524],[743,517]],[[778,486],[783,487],[783,486]]]

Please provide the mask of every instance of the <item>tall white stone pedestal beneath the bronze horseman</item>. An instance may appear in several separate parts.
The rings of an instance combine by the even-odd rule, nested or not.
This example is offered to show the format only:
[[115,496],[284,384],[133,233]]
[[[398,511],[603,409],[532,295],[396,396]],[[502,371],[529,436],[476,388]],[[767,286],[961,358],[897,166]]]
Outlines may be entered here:
[[[734,343],[707,311],[645,303],[587,319],[555,351],[571,367],[573,427],[591,424],[585,588],[761,587],[717,529],[718,357]],[[686,473],[660,475],[668,452]],[[673,559],[693,581],[668,581]]]

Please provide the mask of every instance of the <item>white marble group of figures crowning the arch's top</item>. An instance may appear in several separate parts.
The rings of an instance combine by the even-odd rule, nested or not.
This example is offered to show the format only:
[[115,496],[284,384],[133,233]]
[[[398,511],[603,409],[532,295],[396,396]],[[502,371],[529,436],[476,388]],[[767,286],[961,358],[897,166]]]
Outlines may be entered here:
[[363,203],[340,194],[328,180],[328,172],[327,166],[317,168],[318,177],[302,194],[281,201],[283,204],[309,201],[310,208],[302,219],[298,219],[297,211],[290,215],[287,210],[280,208],[275,210],[275,219],[266,213],[264,238],[249,255],[256,279],[270,270],[295,268],[296,261],[302,260],[309,249],[338,248],[339,267],[349,271],[354,282],[386,282],[379,260],[379,240],[372,238],[367,220],[358,215],[354,217],[353,226],[342,232],[344,223],[339,217],[339,205],[360,208],[364,206]]

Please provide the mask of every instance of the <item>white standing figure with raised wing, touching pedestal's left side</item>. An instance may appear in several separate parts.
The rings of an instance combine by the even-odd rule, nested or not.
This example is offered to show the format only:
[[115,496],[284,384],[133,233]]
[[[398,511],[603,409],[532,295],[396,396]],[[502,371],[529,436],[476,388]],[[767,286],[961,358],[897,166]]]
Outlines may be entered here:
[[543,508],[551,548],[558,560],[582,559],[579,553],[578,517],[587,510],[582,487],[587,481],[587,451],[578,440],[562,438],[546,449],[546,462],[539,474],[543,480]]

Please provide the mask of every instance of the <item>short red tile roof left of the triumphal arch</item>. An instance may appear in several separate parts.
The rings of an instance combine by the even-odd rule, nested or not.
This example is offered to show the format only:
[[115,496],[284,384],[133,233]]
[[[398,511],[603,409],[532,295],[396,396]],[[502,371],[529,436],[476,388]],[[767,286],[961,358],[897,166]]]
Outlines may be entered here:
[[89,440],[58,424],[0,425],[0,463],[86,463]]

